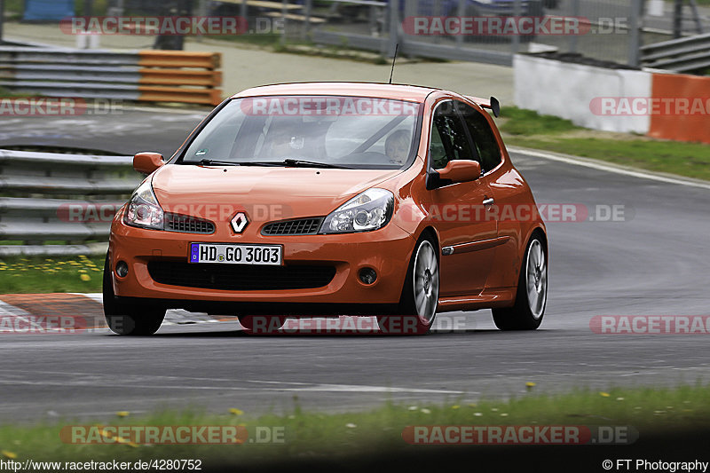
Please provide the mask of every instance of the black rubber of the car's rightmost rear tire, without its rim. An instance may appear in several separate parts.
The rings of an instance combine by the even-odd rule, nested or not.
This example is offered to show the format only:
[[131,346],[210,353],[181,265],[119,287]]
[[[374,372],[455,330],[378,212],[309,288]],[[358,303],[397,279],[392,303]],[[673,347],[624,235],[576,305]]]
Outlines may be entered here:
[[[540,245],[540,250],[544,255],[542,273],[539,274],[540,280],[535,277],[533,283],[535,288],[540,283],[542,291],[542,302],[540,305],[535,302],[531,304],[528,296],[528,278],[529,278],[529,259],[531,257],[531,248]],[[493,309],[493,322],[495,326],[501,330],[534,330],[540,327],[542,318],[545,315],[545,305],[547,304],[548,296],[548,248],[539,234],[533,234],[533,237],[528,241],[523,254],[523,262],[520,268],[520,277],[517,281],[516,304],[512,307]],[[537,272],[536,272],[537,273]],[[534,311],[531,305],[534,305]]]

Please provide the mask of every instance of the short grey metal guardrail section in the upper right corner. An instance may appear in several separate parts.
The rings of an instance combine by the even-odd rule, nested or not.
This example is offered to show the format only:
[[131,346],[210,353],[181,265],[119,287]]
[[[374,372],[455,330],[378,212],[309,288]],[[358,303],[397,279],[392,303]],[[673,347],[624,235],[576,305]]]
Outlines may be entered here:
[[644,67],[690,72],[710,67],[710,33],[641,47]]

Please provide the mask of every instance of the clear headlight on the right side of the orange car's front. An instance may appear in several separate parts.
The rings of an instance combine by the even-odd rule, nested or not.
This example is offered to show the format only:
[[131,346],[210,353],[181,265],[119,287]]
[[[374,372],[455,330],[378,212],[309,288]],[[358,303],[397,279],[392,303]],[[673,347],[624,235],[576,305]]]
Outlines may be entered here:
[[331,212],[320,233],[353,233],[387,225],[394,209],[394,195],[385,189],[367,189]]

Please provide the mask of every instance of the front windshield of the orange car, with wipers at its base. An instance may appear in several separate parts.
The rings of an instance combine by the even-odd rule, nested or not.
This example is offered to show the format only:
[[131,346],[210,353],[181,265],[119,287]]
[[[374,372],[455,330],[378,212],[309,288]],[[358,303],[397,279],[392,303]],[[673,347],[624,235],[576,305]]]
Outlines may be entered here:
[[193,139],[184,164],[398,169],[414,159],[420,106],[392,99],[233,99]]

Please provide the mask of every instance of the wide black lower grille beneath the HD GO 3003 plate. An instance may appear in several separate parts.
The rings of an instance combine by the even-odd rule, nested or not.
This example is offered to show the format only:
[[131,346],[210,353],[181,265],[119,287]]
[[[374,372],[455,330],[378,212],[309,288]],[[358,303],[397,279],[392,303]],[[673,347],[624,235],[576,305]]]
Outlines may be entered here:
[[252,266],[151,261],[148,272],[161,284],[231,291],[322,288],[335,277],[334,266],[299,264]]

